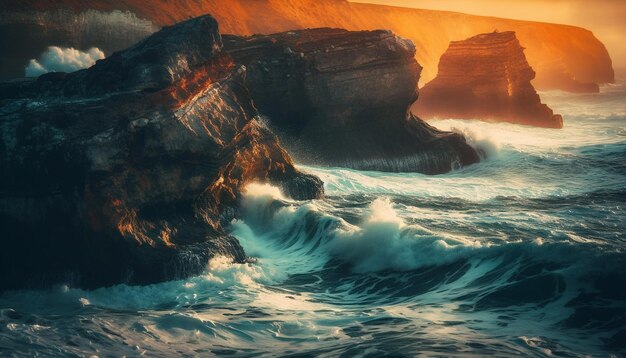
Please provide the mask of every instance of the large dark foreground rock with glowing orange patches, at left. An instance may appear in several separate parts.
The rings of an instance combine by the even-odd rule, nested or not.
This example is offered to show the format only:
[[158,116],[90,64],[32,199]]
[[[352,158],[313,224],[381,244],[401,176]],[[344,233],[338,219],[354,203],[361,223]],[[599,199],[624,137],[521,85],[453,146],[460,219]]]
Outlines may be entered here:
[[245,259],[222,223],[242,186],[298,199],[298,172],[257,120],[245,70],[208,16],[88,70],[0,86],[0,290],[147,283]]

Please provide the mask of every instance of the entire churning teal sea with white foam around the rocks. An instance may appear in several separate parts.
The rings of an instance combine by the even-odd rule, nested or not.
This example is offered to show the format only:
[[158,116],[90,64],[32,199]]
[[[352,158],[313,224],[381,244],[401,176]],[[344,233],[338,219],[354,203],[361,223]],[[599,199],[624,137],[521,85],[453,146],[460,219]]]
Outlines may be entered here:
[[446,175],[304,167],[247,188],[255,263],[0,296],[0,356],[626,356],[626,76],[541,93],[565,128],[441,120],[486,158]]

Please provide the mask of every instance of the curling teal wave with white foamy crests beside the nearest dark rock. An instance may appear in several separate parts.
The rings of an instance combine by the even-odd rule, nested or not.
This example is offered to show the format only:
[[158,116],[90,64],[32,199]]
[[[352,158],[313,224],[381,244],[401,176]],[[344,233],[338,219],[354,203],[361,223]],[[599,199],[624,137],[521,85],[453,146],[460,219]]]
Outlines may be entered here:
[[232,233],[265,267],[291,267],[292,274],[320,269],[331,257],[356,272],[410,270],[449,263],[488,245],[407,225],[387,198],[373,201],[351,225],[321,213],[315,203],[283,201],[276,208],[285,200],[276,190],[255,185],[246,192],[244,217],[233,222]]

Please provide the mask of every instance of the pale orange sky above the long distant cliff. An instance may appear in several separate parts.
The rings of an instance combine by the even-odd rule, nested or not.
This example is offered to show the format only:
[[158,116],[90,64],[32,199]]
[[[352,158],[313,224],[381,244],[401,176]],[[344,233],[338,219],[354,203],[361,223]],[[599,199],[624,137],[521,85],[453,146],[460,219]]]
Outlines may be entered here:
[[614,67],[626,67],[626,0],[351,0],[464,12],[587,28],[607,47]]

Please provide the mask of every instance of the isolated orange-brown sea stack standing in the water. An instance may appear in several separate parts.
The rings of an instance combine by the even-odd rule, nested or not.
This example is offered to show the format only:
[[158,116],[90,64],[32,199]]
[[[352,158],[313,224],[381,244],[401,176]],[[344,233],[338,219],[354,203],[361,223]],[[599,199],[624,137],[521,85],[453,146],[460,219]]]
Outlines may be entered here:
[[524,49],[514,32],[481,34],[450,44],[439,74],[420,92],[423,118],[481,119],[562,128],[563,118],[541,103]]

